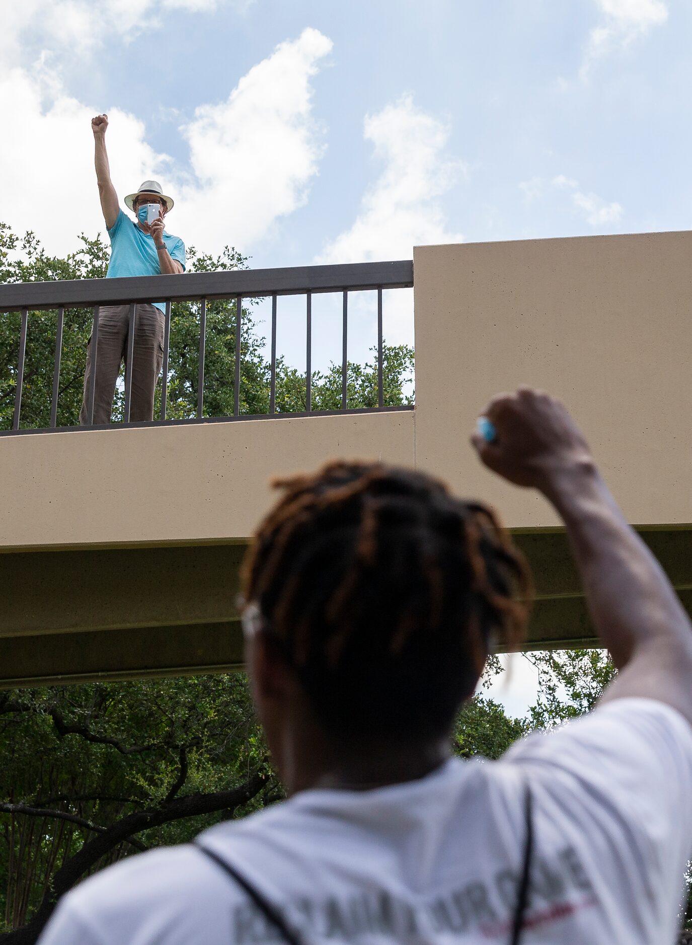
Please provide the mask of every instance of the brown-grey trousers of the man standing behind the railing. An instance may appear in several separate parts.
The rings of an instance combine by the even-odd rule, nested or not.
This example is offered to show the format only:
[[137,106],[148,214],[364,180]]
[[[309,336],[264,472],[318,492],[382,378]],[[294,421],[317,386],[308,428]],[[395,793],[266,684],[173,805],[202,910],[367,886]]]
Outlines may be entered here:
[[[98,313],[94,422],[110,423],[112,398],[120,365],[128,364],[130,305],[104,305]],[[130,421],[153,420],[154,388],[164,361],[164,313],[154,305],[137,305],[134,318],[132,395]],[[79,423],[88,423],[89,387],[92,378],[92,339],[87,346],[84,371],[84,400]]]

